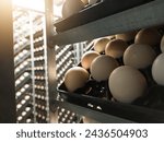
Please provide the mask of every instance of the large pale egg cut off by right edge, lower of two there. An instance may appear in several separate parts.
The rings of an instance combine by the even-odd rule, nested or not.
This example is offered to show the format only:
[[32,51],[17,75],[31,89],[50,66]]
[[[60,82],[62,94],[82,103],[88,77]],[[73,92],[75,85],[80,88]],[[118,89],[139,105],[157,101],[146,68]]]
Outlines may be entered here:
[[152,66],[152,76],[154,81],[164,85],[164,54],[156,57]]

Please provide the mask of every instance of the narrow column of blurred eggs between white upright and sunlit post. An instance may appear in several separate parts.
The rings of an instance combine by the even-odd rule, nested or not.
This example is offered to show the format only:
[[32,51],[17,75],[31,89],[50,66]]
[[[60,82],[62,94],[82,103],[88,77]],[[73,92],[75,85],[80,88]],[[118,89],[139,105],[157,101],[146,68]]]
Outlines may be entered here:
[[35,13],[33,34],[34,52],[34,94],[36,122],[49,122],[49,99],[47,86],[46,40],[44,14]]

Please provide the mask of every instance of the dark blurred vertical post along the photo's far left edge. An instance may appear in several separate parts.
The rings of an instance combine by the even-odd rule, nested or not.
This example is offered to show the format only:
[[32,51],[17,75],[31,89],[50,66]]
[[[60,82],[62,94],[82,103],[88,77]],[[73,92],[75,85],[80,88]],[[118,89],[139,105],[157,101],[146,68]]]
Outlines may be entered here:
[[0,2],[0,122],[16,122],[11,0]]

